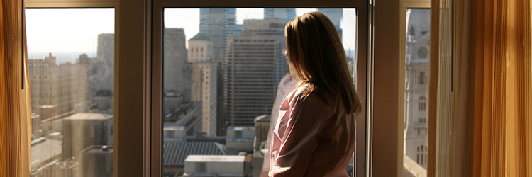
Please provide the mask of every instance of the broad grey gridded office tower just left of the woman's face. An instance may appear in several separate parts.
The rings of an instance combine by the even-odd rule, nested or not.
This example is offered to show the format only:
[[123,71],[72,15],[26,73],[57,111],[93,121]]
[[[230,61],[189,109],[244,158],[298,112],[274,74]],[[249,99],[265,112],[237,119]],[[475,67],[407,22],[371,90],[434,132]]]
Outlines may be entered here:
[[228,126],[253,126],[271,113],[276,86],[288,72],[282,49],[287,20],[245,20],[240,36],[229,36],[224,66]]

